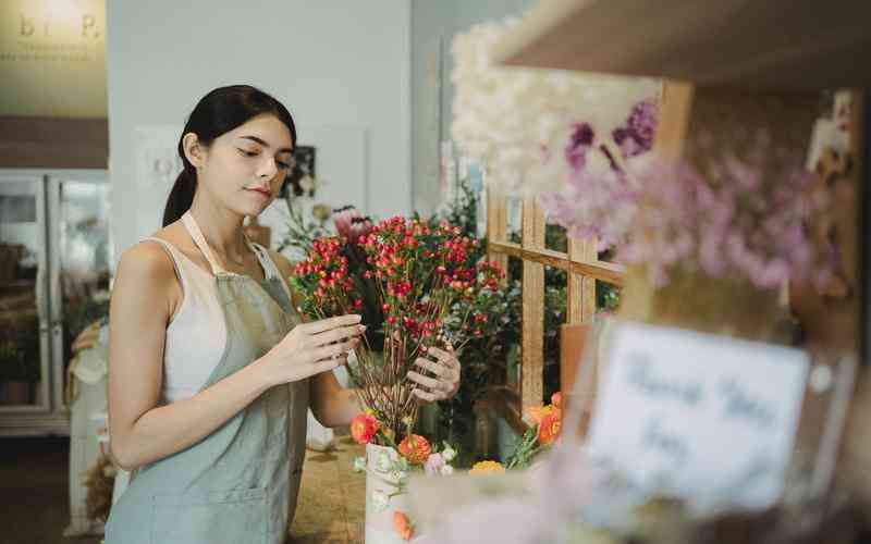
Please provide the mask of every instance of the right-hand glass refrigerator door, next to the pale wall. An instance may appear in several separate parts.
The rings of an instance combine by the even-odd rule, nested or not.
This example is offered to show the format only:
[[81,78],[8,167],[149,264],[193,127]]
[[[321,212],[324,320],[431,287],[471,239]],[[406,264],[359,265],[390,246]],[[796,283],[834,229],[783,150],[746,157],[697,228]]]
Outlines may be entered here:
[[109,313],[109,187],[105,175],[49,182],[51,338],[59,407],[65,404],[73,342]]

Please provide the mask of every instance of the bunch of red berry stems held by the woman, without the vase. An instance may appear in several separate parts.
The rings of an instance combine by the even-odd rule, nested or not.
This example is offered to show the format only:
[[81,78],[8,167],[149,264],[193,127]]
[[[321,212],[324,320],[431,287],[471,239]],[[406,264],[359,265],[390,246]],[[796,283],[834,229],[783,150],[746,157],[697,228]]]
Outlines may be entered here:
[[482,334],[475,323],[486,314],[468,304],[469,311],[454,309],[495,296],[504,272],[478,261],[480,240],[447,222],[433,226],[395,217],[371,225],[343,218],[348,210],[339,212],[336,226],[345,234],[315,240],[291,281],[304,296],[304,313],[323,319],[361,312],[378,334],[365,337],[356,350],[358,363],[349,370],[380,429],[402,442],[407,421],[417,418],[415,383],[406,378],[414,361],[449,342],[461,350]]

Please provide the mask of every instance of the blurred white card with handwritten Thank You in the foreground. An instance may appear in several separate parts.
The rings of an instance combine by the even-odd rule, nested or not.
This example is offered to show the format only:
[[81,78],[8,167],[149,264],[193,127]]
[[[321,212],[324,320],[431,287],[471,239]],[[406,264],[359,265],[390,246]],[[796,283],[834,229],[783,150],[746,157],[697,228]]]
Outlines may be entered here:
[[589,447],[631,482],[697,508],[763,508],[783,491],[809,358],[633,322],[606,339]]

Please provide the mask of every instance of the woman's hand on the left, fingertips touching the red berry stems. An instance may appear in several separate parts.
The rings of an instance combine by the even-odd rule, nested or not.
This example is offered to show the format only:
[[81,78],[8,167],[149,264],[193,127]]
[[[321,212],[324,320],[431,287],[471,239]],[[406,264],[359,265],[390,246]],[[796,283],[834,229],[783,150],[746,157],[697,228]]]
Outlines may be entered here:
[[297,382],[347,362],[347,354],[359,345],[366,331],[357,314],[339,316],[302,323],[261,357],[270,386]]

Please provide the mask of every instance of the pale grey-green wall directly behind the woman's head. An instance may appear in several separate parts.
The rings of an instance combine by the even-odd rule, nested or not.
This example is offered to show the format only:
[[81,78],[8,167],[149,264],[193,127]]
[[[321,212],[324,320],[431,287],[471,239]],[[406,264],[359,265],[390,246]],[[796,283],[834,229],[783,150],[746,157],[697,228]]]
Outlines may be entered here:
[[[136,183],[137,129],[183,125],[199,98],[228,84],[252,84],[282,100],[299,127],[299,144],[309,143],[306,127],[326,138],[315,143],[327,147],[318,150],[318,174],[343,177],[329,180],[333,191],[346,184],[357,194],[354,184],[364,183],[368,213],[410,211],[410,0],[108,4],[116,255],[157,230],[168,190]],[[348,133],[361,137],[329,136]],[[364,163],[354,180],[345,180],[347,164],[343,170],[336,162],[348,141],[364,148],[361,161],[359,150],[351,150]]]

